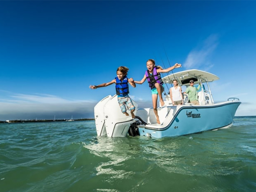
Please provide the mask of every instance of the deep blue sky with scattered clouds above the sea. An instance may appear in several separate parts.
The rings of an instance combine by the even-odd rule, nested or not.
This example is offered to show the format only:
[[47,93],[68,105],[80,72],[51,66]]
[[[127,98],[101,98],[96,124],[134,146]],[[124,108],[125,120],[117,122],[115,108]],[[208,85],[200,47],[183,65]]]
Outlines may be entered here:
[[[255,1],[0,1],[0,120],[92,118],[116,68],[141,80],[146,61],[220,77],[213,98],[256,115]],[[162,63],[164,61],[164,64]],[[183,90],[185,91],[185,90]],[[151,107],[148,84],[130,88]]]

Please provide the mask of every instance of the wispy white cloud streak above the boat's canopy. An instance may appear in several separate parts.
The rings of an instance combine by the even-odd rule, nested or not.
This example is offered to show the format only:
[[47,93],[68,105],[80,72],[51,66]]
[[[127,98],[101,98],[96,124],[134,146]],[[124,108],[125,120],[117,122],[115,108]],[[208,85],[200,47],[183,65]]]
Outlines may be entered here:
[[[187,69],[198,68],[201,65],[208,66],[207,68],[212,68],[213,64],[211,64],[208,59],[216,49],[218,45],[218,35],[213,34],[209,36],[201,46],[201,48],[196,48],[192,50],[184,63],[184,67]],[[209,70],[209,69],[208,69]]]

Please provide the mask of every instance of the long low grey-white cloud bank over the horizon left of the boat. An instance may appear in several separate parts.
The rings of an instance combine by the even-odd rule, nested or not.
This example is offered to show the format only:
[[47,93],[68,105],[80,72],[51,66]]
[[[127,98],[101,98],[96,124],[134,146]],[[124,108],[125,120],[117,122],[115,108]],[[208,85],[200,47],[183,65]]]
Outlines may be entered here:
[[[11,92],[10,92],[11,93]],[[95,100],[67,100],[49,94],[14,94],[11,99],[1,99],[0,120],[59,118],[92,118]],[[13,99],[12,99],[13,98]]]

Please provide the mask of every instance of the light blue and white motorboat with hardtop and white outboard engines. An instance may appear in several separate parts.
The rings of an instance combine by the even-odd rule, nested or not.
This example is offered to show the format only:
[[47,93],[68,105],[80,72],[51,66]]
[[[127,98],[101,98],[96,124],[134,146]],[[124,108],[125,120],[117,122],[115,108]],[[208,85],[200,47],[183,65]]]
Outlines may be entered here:
[[[148,136],[153,138],[188,135],[232,126],[238,106],[238,98],[215,103],[209,83],[219,77],[197,69],[186,70],[162,78],[165,84],[178,80],[180,86],[189,86],[193,80],[195,86],[201,85],[197,92],[199,105],[193,105],[188,95],[183,93],[183,105],[173,106],[170,95],[165,94],[164,106],[157,108],[160,124],[156,123],[153,108],[137,108],[135,118],[125,116],[118,105],[117,95],[103,98],[94,107],[94,118],[98,136],[126,137]],[[159,106],[161,106],[159,104]],[[127,111],[129,113],[129,110]]]

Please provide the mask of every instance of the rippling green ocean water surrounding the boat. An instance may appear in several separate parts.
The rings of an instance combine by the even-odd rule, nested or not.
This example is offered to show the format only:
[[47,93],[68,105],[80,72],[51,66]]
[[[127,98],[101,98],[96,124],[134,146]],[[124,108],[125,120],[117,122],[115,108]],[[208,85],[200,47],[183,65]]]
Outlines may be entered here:
[[0,124],[0,191],[256,191],[256,116],[175,138],[97,137],[94,121]]

